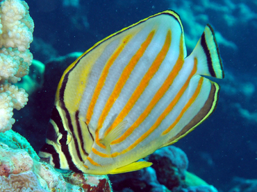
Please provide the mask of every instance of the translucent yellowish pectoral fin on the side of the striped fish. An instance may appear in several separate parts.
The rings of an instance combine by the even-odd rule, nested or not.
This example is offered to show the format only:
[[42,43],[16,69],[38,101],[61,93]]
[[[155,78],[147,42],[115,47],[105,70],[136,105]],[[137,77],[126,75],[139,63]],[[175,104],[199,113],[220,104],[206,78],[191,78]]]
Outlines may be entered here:
[[107,152],[110,153],[110,143],[122,134],[122,130],[124,130],[127,123],[128,121],[126,120],[120,122],[113,130],[108,132],[108,134],[105,137],[103,137],[103,139],[100,139],[99,142],[106,146]]

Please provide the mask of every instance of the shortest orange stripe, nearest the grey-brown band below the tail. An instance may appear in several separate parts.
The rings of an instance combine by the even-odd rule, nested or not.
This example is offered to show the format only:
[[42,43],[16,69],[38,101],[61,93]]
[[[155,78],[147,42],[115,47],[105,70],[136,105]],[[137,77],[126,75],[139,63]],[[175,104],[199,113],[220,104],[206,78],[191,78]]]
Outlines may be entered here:
[[193,96],[190,98],[190,100],[188,101],[188,103],[185,105],[185,107],[183,107],[183,110],[181,111],[181,113],[179,114],[179,116],[176,118],[176,120],[172,123],[172,125],[169,126],[169,128],[167,128],[167,130],[165,130],[162,135],[167,134],[170,130],[172,130],[175,125],[177,123],[179,123],[179,120],[181,119],[181,117],[183,116],[183,114],[188,110],[188,108],[192,105],[192,103],[194,103],[194,101],[196,100],[197,96],[199,95],[200,91],[201,91],[201,85],[203,85],[204,82],[204,78],[201,77],[197,86],[196,91],[194,91]]

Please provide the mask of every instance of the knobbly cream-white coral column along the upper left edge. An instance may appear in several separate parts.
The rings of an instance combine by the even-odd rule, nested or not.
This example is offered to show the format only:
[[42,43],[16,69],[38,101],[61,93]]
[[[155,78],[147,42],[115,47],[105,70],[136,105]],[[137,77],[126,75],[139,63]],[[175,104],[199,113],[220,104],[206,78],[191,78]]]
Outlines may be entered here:
[[20,0],[2,1],[0,17],[0,132],[5,132],[15,123],[13,109],[20,110],[28,101],[25,90],[12,83],[28,74],[34,23],[28,4]]

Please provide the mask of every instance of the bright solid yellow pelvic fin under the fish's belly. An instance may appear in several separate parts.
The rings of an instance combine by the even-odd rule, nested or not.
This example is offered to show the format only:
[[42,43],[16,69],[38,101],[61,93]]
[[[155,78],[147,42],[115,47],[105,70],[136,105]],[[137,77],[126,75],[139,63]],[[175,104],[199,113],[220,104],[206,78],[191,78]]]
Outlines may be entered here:
[[110,174],[138,171],[138,170],[140,170],[142,168],[146,168],[146,167],[149,167],[151,165],[152,165],[151,162],[133,162],[133,163],[128,164],[126,166],[122,166],[122,167],[116,168],[113,171],[110,171]]

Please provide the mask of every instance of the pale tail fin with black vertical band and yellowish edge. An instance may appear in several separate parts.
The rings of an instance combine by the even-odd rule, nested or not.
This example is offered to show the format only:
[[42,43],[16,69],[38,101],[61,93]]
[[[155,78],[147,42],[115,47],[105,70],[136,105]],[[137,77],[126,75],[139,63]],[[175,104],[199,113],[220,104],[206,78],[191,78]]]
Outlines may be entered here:
[[207,24],[204,33],[188,58],[197,58],[197,73],[214,78],[224,78],[222,59],[213,28]]

